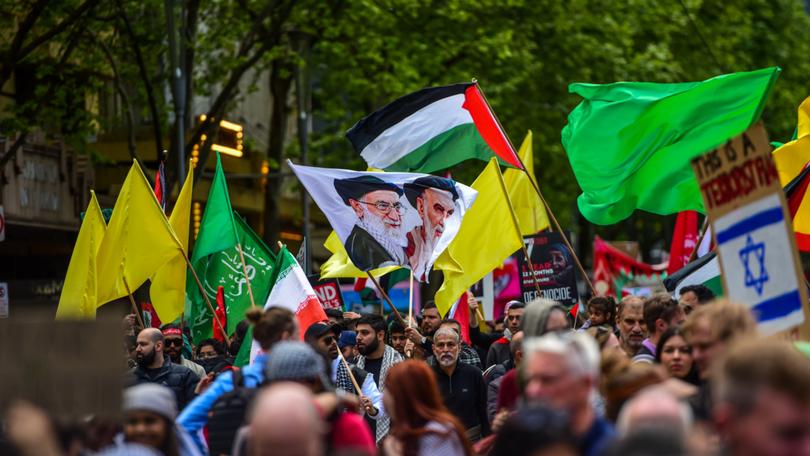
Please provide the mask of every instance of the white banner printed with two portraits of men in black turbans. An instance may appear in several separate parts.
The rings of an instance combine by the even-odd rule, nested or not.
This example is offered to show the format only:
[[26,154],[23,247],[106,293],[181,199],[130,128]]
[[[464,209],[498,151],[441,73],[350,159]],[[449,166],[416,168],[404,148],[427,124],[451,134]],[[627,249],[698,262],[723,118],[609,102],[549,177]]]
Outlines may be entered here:
[[427,281],[478,195],[466,185],[428,174],[289,165],[358,269],[403,266],[420,282]]

